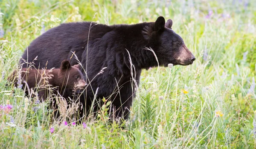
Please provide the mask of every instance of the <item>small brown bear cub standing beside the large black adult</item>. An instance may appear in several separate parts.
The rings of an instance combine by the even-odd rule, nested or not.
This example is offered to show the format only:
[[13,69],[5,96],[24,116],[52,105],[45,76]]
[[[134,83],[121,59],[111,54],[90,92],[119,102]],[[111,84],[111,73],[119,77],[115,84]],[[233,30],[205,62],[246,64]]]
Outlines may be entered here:
[[60,94],[62,97],[68,98],[74,91],[78,93],[87,85],[79,66],[70,66],[69,61],[63,60],[60,68],[51,70],[22,68],[20,71],[15,70],[8,77],[8,81],[13,82],[15,87],[18,87],[20,82],[22,88],[26,88],[27,95],[31,89],[38,91],[41,101],[44,101],[51,91],[51,94],[57,96]]

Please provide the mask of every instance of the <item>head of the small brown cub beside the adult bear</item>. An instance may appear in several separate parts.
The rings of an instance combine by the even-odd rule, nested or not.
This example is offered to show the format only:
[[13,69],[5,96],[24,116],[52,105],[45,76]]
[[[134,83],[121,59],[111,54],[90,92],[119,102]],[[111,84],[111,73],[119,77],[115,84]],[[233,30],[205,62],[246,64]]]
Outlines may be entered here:
[[80,90],[87,86],[84,76],[80,71],[80,65],[70,66],[70,62],[67,60],[61,62],[57,81],[61,81],[58,83],[62,84],[62,88]]

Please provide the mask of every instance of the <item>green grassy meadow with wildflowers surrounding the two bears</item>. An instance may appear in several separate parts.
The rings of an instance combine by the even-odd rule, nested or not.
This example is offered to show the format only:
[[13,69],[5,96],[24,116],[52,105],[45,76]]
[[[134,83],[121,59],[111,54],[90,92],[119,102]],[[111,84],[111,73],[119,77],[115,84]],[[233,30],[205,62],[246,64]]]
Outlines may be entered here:
[[[166,1],[1,0],[0,104],[13,107],[0,111],[0,148],[256,148],[256,4]],[[99,120],[84,121],[86,128],[50,123],[47,103],[5,87],[26,46],[49,28],[83,20],[134,24],[160,15],[173,20],[196,61],[143,70],[124,129],[106,125],[108,106]]]

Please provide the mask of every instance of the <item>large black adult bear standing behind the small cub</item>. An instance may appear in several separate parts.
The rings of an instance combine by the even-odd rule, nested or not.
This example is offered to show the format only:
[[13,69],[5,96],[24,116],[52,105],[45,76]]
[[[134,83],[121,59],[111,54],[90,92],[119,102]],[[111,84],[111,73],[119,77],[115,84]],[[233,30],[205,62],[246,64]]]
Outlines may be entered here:
[[[100,106],[98,100],[105,97],[112,101],[112,115],[125,119],[142,69],[166,67],[169,63],[191,65],[195,60],[183,39],[172,30],[172,20],[165,22],[158,17],[155,22],[134,25],[64,23],[31,42],[20,62],[32,62],[38,56],[35,67],[45,67],[47,61],[47,67],[58,67],[73,52],[83,66],[84,79],[90,82],[80,97],[80,116],[88,113],[91,106],[96,110]],[[70,63],[77,64],[77,60],[71,59]],[[99,74],[105,67],[104,73]]]

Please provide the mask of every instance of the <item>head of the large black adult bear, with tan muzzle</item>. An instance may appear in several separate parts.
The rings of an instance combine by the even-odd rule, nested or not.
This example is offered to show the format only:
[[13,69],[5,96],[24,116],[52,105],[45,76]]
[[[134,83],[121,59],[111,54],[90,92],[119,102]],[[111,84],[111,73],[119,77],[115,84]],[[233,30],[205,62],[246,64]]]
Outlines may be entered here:
[[147,48],[152,48],[159,65],[191,65],[195,56],[186,47],[183,39],[172,30],[172,20],[165,22],[163,17],[143,30],[143,37],[148,40]]

